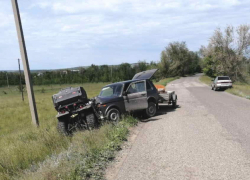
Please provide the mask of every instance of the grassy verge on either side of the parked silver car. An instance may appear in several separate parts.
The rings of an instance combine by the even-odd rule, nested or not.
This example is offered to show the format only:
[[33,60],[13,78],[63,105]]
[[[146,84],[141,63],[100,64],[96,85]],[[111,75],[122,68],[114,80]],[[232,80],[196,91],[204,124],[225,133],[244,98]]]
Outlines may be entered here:
[[[200,77],[200,81],[207,85],[211,85],[211,79],[212,78],[205,75]],[[234,82],[233,88],[227,89],[226,92],[234,94],[236,96],[244,97],[246,99],[250,99],[250,84]]]

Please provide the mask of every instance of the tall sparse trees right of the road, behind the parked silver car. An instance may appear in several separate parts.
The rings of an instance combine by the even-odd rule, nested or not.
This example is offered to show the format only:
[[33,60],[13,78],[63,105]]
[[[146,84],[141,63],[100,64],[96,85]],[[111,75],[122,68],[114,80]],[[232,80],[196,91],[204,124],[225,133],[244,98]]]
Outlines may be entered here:
[[233,81],[250,82],[250,26],[217,28],[200,56],[205,74],[226,75]]

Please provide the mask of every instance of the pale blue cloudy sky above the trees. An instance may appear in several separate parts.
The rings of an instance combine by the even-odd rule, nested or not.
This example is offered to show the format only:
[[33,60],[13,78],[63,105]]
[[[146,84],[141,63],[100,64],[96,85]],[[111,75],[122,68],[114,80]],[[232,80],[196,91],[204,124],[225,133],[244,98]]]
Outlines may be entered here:
[[[244,0],[19,0],[31,69],[158,61],[172,41],[197,51],[216,27],[250,23]],[[0,0],[0,70],[20,58],[11,0]]]

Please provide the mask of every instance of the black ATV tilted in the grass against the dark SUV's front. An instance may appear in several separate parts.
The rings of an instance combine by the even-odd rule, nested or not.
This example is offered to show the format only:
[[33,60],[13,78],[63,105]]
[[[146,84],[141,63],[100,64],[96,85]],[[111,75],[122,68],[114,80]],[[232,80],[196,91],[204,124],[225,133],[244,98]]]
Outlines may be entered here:
[[102,119],[96,112],[94,99],[87,98],[82,87],[68,87],[52,96],[57,114],[57,129],[60,133],[69,135],[76,129],[93,129],[98,119]]

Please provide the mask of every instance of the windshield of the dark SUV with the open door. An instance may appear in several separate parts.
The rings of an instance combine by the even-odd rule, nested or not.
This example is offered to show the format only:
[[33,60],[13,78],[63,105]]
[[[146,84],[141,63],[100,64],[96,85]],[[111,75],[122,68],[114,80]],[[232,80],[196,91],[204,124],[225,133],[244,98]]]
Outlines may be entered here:
[[122,84],[115,84],[102,88],[99,97],[120,96],[121,93],[122,93]]

